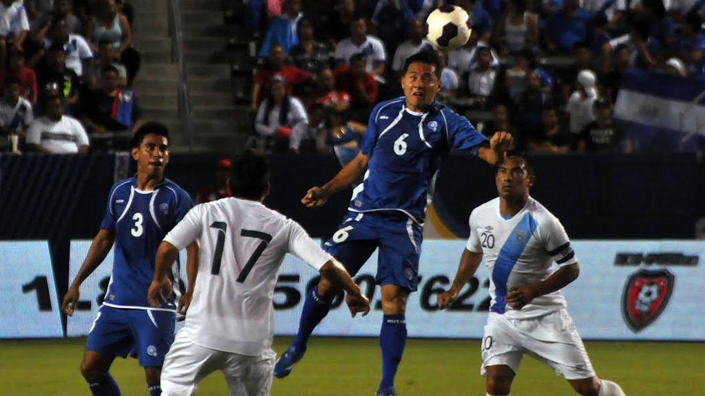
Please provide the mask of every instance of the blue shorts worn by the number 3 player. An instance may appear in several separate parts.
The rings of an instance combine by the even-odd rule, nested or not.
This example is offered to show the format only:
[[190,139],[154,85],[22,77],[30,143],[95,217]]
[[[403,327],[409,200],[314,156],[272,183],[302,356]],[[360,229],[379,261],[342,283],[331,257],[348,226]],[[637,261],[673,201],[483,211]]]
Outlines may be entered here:
[[98,310],[86,342],[86,349],[119,357],[137,357],[140,366],[161,367],[174,340],[176,314],[153,309]]

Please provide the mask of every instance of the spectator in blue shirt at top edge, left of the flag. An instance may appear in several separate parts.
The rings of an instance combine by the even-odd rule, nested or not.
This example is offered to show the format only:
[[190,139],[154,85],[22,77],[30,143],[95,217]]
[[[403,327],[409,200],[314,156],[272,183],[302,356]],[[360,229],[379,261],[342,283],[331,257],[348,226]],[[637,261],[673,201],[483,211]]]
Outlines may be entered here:
[[590,13],[580,8],[580,0],[565,0],[563,8],[546,20],[546,49],[565,54],[575,44],[587,42],[591,38],[590,20]]

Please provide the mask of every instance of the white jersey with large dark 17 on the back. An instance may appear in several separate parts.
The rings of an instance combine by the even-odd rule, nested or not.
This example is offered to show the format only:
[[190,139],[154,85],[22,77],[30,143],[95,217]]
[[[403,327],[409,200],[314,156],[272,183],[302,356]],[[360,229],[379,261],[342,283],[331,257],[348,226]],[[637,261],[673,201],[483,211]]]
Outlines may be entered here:
[[164,241],[200,238],[200,265],[183,331],[202,347],[259,356],[274,336],[274,285],[293,254],[319,270],[331,256],[295,221],[260,202],[223,198],[191,209]]

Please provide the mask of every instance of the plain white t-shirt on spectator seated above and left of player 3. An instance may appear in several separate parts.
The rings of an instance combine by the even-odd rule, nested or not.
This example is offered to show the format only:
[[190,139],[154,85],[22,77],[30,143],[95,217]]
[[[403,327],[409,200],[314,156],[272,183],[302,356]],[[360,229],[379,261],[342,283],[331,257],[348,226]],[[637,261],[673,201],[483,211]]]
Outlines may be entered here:
[[27,130],[26,142],[39,144],[54,154],[77,153],[79,147],[89,145],[81,123],[69,116],[58,121],[46,116],[35,119]]

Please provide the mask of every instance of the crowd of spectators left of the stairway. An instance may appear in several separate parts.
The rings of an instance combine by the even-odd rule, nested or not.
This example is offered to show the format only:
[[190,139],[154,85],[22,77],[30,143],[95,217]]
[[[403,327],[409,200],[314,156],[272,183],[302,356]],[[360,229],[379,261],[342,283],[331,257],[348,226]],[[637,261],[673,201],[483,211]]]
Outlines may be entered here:
[[122,0],[0,1],[0,151],[109,149],[131,135],[133,15]]

